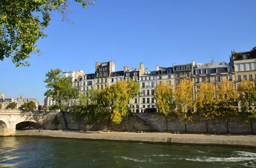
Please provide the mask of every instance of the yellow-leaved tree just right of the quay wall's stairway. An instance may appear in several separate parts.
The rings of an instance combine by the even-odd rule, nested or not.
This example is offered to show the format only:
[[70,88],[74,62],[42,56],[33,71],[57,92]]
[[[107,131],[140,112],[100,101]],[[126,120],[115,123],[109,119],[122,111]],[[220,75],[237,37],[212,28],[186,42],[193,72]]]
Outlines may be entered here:
[[154,98],[158,112],[166,116],[166,130],[168,131],[168,116],[175,113],[176,104],[174,101],[174,92],[172,84],[163,80],[154,88]]

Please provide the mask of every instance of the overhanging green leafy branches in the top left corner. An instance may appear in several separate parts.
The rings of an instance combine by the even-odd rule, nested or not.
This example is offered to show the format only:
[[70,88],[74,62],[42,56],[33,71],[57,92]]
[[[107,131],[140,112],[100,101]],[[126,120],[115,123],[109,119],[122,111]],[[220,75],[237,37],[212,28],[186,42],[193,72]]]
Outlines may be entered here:
[[[96,0],[75,0],[83,8]],[[46,38],[44,29],[49,25],[52,12],[60,12],[68,20],[69,0],[2,0],[0,5],[0,60],[11,58],[19,66],[29,66],[26,58],[32,53],[40,56],[35,43]],[[69,21],[70,22],[70,21]]]

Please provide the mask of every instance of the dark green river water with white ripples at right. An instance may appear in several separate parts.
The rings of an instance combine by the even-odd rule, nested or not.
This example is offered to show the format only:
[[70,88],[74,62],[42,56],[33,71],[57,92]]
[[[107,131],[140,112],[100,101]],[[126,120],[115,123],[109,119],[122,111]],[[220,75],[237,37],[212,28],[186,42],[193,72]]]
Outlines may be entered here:
[[255,168],[256,148],[0,137],[0,167]]

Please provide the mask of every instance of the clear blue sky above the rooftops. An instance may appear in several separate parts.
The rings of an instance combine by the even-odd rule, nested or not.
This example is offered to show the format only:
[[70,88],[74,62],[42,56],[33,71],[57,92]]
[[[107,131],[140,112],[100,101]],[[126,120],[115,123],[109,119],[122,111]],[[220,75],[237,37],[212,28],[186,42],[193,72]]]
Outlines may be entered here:
[[51,68],[73,68],[87,73],[95,63],[112,60],[116,71],[148,70],[214,61],[229,62],[231,50],[256,46],[255,0],[98,0],[82,9],[70,1],[74,24],[52,14],[48,37],[37,43],[43,53],[28,59],[30,67],[0,61],[0,93],[6,98],[44,100],[45,73]]

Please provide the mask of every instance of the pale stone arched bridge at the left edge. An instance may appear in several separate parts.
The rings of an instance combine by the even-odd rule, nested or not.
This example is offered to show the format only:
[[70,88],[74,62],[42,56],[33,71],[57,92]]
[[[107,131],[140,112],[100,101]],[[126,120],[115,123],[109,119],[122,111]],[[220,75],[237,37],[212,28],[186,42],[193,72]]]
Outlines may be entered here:
[[44,112],[0,109],[0,136],[12,135],[15,133],[16,125],[21,122],[43,125],[46,118]]

